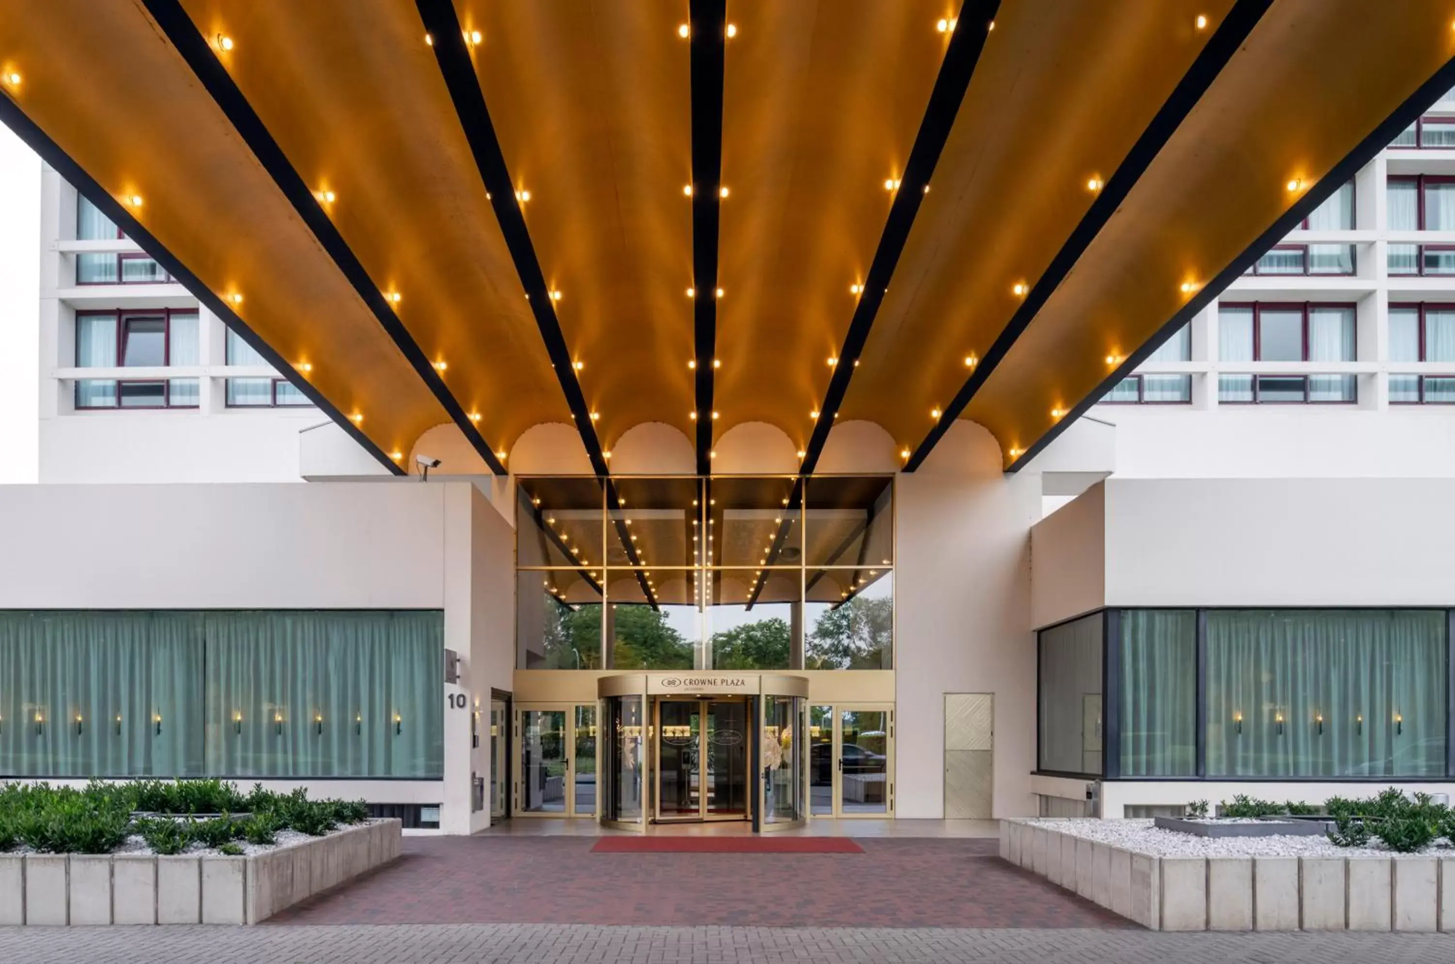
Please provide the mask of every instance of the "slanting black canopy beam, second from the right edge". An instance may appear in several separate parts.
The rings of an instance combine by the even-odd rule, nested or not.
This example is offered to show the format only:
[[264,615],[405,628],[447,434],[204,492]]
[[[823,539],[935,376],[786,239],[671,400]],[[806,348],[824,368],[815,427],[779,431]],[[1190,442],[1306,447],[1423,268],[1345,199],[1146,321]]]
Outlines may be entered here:
[[[1171,95],[1157,111],[1157,115],[1147,125],[1147,129],[1142,131],[1142,135],[1136,138],[1132,150],[1122,158],[1116,173],[1097,192],[1091,206],[1067,237],[1056,256],[1051,259],[1051,265],[1046,266],[1045,273],[1026,292],[1026,300],[1020,302],[1014,314],[1011,314],[1010,321],[995,336],[995,342],[985,350],[979,362],[976,362],[969,378],[965,379],[965,384],[954,394],[954,398],[944,406],[934,426],[931,426],[920,445],[911,452],[904,471],[912,473],[920,468],[938,441],[944,438],[944,433],[950,430],[954,420],[970,404],[975,393],[981,390],[981,385],[985,384],[1005,355],[1010,353],[1011,346],[1030,327],[1036,314],[1045,307],[1056,288],[1061,286],[1067,275],[1071,273],[1071,269],[1075,268],[1081,256],[1085,254],[1091,241],[1106,227],[1106,222],[1112,220],[1116,209],[1122,206],[1122,202],[1126,201],[1132,188],[1136,186],[1142,174],[1147,173],[1147,169],[1151,167],[1157,154],[1171,140],[1173,134],[1177,132],[1183,121],[1187,119],[1197,100],[1202,99],[1202,95],[1218,79],[1222,68],[1232,60],[1232,55],[1238,52],[1238,48],[1243,47],[1243,42],[1247,41],[1253,28],[1257,26],[1272,4],[1273,0],[1237,0],[1232,4],[1228,16],[1222,19],[1202,51],[1197,52],[1192,67],[1187,68],[1187,73],[1173,87]],[[1071,420],[1067,417],[1062,419],[1065,423]]]

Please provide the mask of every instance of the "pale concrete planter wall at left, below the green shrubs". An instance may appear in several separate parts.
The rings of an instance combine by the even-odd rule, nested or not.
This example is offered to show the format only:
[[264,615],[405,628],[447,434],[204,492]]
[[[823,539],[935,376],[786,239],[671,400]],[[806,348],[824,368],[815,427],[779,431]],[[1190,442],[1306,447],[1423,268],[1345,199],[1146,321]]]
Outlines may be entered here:
[[393,861],[400,840],[399,820],[375,820],[253,856],[0,855],[0,925],[258,923]]

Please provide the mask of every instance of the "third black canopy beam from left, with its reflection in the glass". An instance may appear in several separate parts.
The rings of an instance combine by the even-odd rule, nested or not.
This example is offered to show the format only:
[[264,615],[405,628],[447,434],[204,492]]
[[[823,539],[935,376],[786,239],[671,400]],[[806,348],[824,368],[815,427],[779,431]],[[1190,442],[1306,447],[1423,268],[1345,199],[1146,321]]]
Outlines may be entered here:
[[[175,1],[175,0],[173,0]],[[535,327],[546,343],[546,353],[550,355],[551,368],[556,371],[556,381],[560,382],[562,394],[566,395],[566,406],[576,423],[576,433],[586,448],[586,458],[591,468],[607,483],[607,509],[615,513],[621,506],[617,499],[615,486],[611,484],[611,473],[607,470],[607,455],[597,436],[597,426],[591,419],[591,409],[586,407],[586,397],[581,391],[581,381],[576,378],[575,359],[566,346],[566,334],[560,329],[560,318],[556,317],[556,307],[551,302],[550,288],[546,286],[546,276],[541,273],[540,259],[535,256],[535,244],[531,233],[525,227],[525,214],[521,211],[517,198],[515,182],[511,180],[509,166],[505,163],[505,151],[501,150],[501,140],[495,134],[495,122],[490,119],[490,109],[485,103],[485,92],[480,90],[480,80],[474,73],[474,61],[470,60],[470,48],[466,45],[464,33],[460,29],[460,17],[455,15],[453,0],[415,0],[419,19],[423,20],[425,32],[431,38],[431,49],[439,64],[445,87],[450,90],[450,100],[454,103],[455,115],[464,131],[474,164],[485,183],[485,193],[490,198],[490,206],[501,224],[501,234],[505,236],[505,246],[511,252],[515,263],[515,273],[525,289],[525,298],[531,304],[531,314],[535,317]],[[637,567],[637,582],[647,602],[656,608],[656,598],[646,583],[645,573],[640,571],[640,561],[636,548],[631,545],[631,534],[627,531],[620,515],[615,516],[617,532],[626,545],[627,558]],[[605,561],[605,560],[602,560]]]

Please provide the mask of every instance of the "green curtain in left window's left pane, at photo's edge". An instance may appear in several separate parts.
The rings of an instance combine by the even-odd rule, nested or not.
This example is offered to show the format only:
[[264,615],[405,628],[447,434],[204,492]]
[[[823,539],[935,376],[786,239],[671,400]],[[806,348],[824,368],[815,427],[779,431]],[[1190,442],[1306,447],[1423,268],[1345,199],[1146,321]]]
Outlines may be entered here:
[[199,776],[202,616],[0,611],[0,774]]

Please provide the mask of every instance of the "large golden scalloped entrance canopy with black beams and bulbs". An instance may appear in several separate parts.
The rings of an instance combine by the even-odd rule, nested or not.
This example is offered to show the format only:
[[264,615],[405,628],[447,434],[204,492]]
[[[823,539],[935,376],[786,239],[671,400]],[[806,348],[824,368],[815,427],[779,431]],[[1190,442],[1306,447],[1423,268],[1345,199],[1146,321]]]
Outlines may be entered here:
[[1449,0],[6,0],[0,119],[380,462],[1017,468],[1455,86]]

